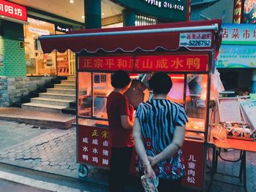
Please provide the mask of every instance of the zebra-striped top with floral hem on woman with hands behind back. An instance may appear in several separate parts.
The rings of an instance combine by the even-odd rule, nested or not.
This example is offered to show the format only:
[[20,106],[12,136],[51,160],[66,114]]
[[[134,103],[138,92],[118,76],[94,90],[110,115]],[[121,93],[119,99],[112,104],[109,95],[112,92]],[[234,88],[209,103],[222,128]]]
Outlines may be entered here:
[[[146,153],[151,156],[157,155],[170,145],[176,126],[185,126],[187,123],[184,107],[167,99],[151,99],[141,103],[135,117],[140,121]],[[155,166],[158,177],[172,180],[182,177],[184,164],[181,155],[181,150],[178,150],[172,158]]]

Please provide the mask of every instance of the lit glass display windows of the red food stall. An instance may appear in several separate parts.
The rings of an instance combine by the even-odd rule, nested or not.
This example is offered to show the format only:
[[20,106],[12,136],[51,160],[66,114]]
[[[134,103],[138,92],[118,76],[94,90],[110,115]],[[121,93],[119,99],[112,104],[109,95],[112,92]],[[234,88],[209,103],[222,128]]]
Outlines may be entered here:
[[[189,122],[186,125],[186,138],[204,141],[206,131],[206,74],[169,74],[173,87],[167,93],[167,99],[183,104]],[[144,81],[145,74],[138,74],[138,80]],[[150,75],[148,75],[150,76]],[[108,94],[113,91],[110,72],[80,72],[78,73],[78,117],[107,120],[106,102]],[[184,83],[186,82],[186,84]],[[134,88],[132,88],[134,90]],[[186,93],[185,93],[186,92]],[[129,95],[135,99],[136,94]],[[148,100],[144,97],[141,101]],[[131,101],[132,103],[132,101]]]

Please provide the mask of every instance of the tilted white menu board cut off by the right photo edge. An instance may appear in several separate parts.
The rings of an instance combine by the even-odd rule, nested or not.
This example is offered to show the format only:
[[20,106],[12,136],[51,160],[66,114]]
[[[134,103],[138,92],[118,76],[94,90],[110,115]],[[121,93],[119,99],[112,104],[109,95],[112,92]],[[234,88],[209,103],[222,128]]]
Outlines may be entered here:
[[244,116],[247,123],[251,125],[253,129],[256,128],[256,100],[244,101],[241,103],[241,107],[244,111]]

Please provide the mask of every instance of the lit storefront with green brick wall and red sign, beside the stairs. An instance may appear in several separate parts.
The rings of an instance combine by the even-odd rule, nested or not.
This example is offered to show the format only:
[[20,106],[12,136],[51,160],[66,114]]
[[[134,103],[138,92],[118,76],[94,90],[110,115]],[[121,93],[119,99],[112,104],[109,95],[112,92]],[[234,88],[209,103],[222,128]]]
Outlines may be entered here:
[[64,34],[83,23],[0,1],[0,107],[10,107],[56,76],[75,74],[75,55],[43,54],[38,37]]

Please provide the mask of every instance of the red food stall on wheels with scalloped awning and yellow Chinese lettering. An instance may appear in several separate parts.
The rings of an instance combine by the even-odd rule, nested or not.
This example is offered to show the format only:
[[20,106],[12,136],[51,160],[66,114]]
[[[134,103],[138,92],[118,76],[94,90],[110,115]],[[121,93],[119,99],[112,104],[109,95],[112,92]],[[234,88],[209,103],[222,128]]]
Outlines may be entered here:
[[[44,53],[76,53],[77,159],[107,168],[110,161],[106,98],[112,72],[122,69],[147,80],[153,72],[173,79],[168,97],[187,110],[183,185],[204,189],[208,143],[211,73],[220,42],[221,20],[165,23],[156,26],[89,29],[39,37]],[[145,78],[146,77],[146,78]],[[146,83],[146,82],[145,82]],[[135,154],[131,172],[136,172]]]

